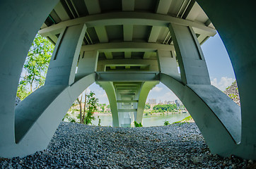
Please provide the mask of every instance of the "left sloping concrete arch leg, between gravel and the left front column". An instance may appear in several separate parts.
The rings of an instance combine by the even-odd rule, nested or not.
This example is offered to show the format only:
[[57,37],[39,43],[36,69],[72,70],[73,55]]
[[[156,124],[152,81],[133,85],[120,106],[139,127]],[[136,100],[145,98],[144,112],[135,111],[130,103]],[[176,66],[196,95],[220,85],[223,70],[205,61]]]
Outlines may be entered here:
[[45,86],[21,101],[15,111],[15,139],[0,147],[0,156],[26,156],[47,148],[76,98],[95,82],[95,73],[70,86]]

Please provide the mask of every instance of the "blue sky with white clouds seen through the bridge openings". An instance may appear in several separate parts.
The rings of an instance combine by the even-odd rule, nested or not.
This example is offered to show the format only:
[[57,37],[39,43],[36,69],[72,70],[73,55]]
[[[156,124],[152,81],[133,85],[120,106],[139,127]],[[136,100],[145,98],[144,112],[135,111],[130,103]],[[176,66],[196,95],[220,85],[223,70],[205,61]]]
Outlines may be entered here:
[[[221,89],[221,91],[225,90],[235,80],[235,75],[221,38],[216,34],[204,42],[201,47],[209,70],[211,84]],[[88,88],[88,92],[90,90],[95,92],[100,104],[109,104],[107,94],[98,84],[93,83]],[[151,89],[148,99],[157,99],[157,102],[159,102],[160,100],[173,101],[177,97],[164,84],[160,83]]]

